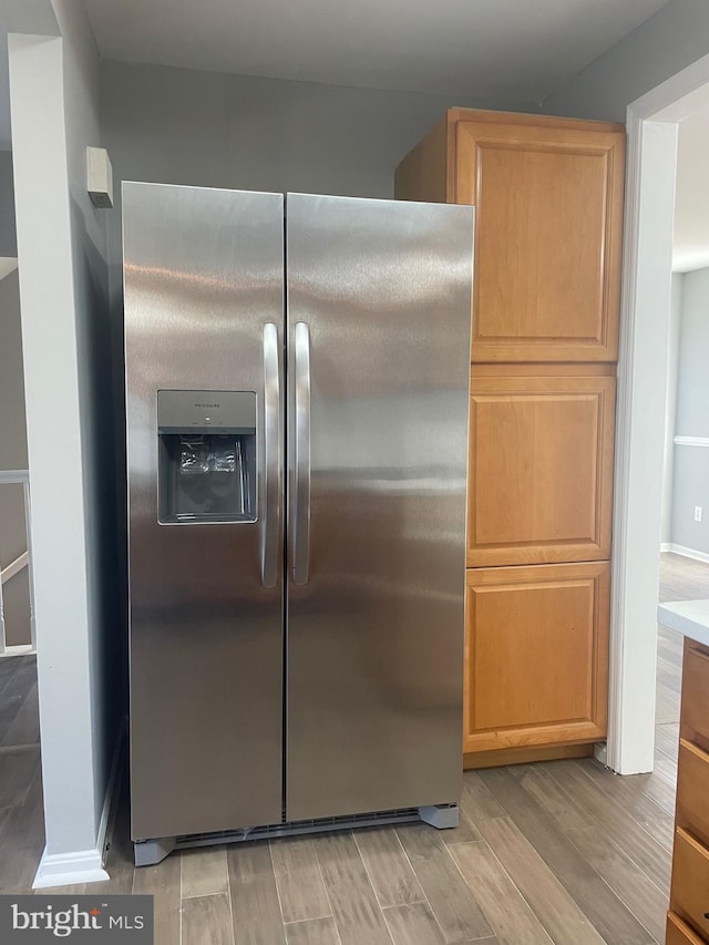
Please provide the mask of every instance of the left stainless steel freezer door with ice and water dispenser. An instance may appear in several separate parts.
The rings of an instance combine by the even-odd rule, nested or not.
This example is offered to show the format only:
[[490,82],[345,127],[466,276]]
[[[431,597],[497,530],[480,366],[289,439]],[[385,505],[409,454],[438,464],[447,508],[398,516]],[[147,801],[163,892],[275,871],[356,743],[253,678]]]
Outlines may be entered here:
[[[123,213],[133,838],[279,822],[284,199],[125,184]],[[161,390],[195,392],[178,412],[187,446],[191,423],[209,446],[228,438],[208,424],[248,408],[236,459],[256,473],[256,521],[160,524]],[[234,477],[207,446],[216,471],[177,470],[186,490]]]

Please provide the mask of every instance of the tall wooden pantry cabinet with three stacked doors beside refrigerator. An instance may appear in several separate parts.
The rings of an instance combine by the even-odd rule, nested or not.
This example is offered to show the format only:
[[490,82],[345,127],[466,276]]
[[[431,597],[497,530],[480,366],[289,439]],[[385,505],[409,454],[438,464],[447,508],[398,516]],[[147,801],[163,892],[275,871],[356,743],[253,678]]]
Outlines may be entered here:
[[466,767],[606,737],[625,130],[451,109],[399,199],[475,206]]

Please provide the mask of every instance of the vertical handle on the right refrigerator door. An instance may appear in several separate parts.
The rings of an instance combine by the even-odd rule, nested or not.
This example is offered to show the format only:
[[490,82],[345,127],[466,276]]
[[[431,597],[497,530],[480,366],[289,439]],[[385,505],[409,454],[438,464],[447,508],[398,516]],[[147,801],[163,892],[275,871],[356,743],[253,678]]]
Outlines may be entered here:
[[308,583],[310,544],[310,329],[295,326],[295,503],[292,579]]

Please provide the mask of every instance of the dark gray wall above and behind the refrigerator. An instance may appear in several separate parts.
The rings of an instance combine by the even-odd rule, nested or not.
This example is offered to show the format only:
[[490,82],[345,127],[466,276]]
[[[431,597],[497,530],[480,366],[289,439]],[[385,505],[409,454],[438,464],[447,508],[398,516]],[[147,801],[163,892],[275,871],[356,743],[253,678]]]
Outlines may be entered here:
[[[101,63],[101,122],[120,182],[390,197],[404,154],[451,105],[535,111],[531,102],[386,92]],[[120,284],[120,213],[110,218]]]

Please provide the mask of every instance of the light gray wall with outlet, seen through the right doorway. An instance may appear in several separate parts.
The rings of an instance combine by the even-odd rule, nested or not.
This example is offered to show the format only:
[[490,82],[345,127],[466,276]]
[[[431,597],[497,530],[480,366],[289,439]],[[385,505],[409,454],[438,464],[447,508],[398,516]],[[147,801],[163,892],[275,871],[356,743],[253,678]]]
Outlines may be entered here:
[[[677,436],[709,440],[709,269],[682,277],[679,369],[677,373]],[[695,522],[695,505],[703,521]],[[709,554],[709,449],[675,446],[672,544]]]

